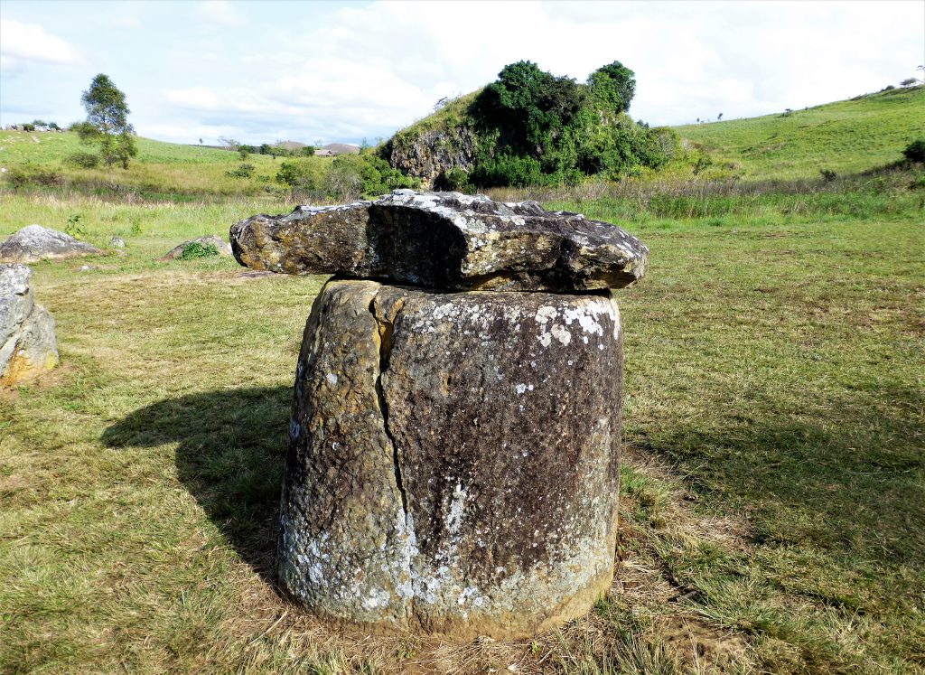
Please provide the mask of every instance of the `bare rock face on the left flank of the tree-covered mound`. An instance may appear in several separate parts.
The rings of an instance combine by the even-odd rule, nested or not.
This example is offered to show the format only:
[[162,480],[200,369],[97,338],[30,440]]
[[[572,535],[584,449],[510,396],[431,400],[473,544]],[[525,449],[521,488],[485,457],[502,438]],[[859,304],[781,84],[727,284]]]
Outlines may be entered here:
[[443,188],[447,171],[461,169],[468,174],[475,164],[475,131],[465,125],[450,130],[429,129],[405,132],[392,138],[384,155],[393,169],[421,181],[425,189]]

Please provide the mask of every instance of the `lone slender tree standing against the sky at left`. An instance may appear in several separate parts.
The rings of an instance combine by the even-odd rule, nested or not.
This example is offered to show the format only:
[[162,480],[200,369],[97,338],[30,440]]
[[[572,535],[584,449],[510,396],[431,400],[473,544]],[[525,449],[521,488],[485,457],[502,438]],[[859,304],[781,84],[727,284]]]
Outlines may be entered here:
[[129,168],[129,157],[138,154],[135,147],[135,130],[129,124],[129,106],[125,94],[120,92],[107,75],[100,73],[83,93],[80,102],[87,111],[87,119],[78,127],[83,143],[100,144],[100,156],[106,169],[119,162],[122,169]]

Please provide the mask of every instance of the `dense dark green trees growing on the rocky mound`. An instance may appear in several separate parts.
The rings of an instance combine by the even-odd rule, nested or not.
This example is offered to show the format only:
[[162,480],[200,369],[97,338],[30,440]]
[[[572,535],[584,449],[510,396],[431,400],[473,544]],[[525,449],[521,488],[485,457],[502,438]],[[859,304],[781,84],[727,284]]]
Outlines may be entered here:
[[[634,94],[635,74],[619,61],[584,83],[531,61],[506,66],[469,108],[477,143],[465,181],[540,185],[660,167],[677,152],[677,135],[630,119],[626,111]],[[458,173],[447,175],[447,182],[463,181]]]

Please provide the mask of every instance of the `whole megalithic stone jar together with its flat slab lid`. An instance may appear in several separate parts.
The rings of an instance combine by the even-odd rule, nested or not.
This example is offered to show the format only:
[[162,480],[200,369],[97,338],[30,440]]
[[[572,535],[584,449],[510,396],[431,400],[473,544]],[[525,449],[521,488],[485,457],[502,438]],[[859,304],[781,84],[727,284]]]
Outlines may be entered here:
[[606,592],[623,388],[607,285],[642,277],[643,244],[410,191],[247,219],[231,244],[256,269],[340,275],[296,369],[277,552],[296,602],[467,639],[534,634]]

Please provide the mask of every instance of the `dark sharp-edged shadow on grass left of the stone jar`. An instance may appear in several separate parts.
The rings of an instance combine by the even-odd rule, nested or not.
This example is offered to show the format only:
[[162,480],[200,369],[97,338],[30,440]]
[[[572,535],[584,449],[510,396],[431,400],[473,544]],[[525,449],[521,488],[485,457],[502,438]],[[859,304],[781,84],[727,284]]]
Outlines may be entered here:
[[110,447],[179,443],[177,472],[241,558],[273,583],[291,387],[158,401],[106,429]]

